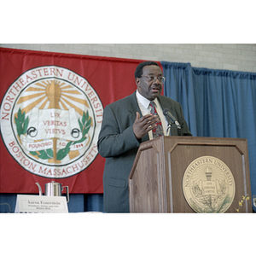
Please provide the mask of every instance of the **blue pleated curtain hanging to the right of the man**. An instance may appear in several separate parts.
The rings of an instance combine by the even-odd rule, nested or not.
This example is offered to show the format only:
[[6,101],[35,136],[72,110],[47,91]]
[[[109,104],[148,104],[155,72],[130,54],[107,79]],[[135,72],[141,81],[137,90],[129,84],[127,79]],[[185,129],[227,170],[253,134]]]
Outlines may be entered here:
[[247,138],[251,189],[256,195],[256,73],[166,61],[161,65],[165,95],[181,103],[193,136]]

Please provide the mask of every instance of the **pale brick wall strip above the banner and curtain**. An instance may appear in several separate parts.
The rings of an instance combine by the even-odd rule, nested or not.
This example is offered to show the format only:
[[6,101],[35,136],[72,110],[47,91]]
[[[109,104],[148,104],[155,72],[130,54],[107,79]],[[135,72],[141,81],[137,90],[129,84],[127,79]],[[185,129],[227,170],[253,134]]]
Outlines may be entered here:
[[256,73],[256,44],[0,44],[0,47],[190,62],[192,67]]

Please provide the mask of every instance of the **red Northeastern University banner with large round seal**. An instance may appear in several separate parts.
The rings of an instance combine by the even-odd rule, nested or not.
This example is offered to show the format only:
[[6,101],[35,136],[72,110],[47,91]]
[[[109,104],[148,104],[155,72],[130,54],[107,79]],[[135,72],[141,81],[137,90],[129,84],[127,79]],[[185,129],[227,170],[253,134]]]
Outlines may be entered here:
[[0,48],[0,193],[56,181],[102,193],[103,108],[136,90],[138,60]]

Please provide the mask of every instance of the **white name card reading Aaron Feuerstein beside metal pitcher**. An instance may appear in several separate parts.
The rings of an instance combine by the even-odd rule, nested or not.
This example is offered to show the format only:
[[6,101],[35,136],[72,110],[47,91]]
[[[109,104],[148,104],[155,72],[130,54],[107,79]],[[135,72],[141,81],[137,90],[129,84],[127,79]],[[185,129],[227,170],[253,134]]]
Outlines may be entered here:
[[66,196],[17,195],[15,212],[67,213]]

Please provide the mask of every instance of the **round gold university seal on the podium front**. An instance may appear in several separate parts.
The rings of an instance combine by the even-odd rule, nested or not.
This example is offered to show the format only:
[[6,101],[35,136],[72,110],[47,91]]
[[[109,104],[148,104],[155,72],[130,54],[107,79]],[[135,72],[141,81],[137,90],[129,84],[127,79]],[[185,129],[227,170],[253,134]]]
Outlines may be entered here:
[[201,156],[183,175],[183,194],[195,212],[226,212],[236,191],[232,172],[222,160]]

